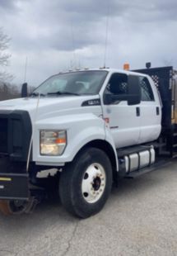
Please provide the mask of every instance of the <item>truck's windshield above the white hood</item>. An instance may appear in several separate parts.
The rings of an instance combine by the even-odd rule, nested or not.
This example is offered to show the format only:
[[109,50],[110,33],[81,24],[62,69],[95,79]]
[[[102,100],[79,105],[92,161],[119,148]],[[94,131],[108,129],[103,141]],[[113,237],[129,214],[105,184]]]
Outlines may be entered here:
[[107,73],[105,70],[59,73],[41,83],[32,95],[98,94]]

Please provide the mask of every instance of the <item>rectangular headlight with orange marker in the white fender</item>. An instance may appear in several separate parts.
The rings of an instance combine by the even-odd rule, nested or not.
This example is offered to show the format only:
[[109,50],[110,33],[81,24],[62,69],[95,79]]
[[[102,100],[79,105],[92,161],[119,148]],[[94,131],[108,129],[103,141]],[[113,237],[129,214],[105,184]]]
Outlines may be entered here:
[[66,145],[66,130],[40,130],[40,154],[61,155]]

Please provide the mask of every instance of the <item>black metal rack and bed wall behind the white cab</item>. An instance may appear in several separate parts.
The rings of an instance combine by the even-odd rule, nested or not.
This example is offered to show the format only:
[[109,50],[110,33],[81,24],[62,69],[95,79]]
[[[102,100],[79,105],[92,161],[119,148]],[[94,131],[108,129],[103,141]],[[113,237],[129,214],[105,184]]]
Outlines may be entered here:
[[170,157],[177,156],[177,71],[172,66],[137,69],[138,73],[151,76],[161,95],[162,102],[162,131],[159,141],[165,143],[165,151]]

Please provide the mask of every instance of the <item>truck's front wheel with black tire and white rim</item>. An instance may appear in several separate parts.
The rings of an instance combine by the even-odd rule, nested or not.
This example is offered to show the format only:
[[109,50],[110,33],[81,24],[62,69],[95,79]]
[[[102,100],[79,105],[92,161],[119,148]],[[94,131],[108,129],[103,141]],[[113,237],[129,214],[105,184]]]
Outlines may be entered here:
[[105,205],[112,187],[112,167],[104,151],[87,148],[66,165],[59,180],[63,206],[74,216],[87,218]]

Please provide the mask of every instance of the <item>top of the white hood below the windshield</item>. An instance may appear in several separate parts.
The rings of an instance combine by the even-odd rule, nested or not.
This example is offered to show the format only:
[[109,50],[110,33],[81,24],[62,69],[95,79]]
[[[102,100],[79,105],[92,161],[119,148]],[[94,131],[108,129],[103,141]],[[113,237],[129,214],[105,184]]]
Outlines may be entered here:
[[[71,115],[86,112],[82,103],[92,99],[100,99],[99,95],[67,96],[67,97],[26,97],[0,102],[1,110],[24,110],[28,111],[31,120],[37,114],[37,119],[47,119],[51,116]],[[94,106],[98,109],[100,106]],[[84,111],[85,109],[85,111]],[[90,109],[90,107],[89,107]],[[91,111],[91,109],[90,109]],[[99,111],[100,112],[100,111]],[[98,113],[99,115],[100,113]]]

